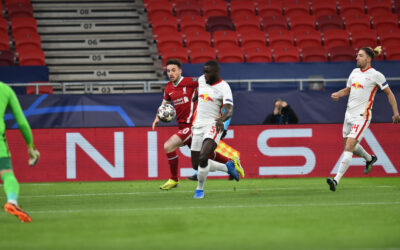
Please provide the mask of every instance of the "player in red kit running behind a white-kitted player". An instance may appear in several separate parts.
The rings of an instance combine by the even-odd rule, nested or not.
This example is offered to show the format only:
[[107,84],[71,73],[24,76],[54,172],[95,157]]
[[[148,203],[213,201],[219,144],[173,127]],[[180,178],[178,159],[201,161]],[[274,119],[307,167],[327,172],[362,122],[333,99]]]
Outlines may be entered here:
[[[164,98],[162,104],[172,103],[176,110],[176,119],[178,122],[179,131],[173,134],[165,143],[164,151],[168,158],[168,163],[171,171],[170,179],[160,187],[162,190],[170,190],[178,187],[178,154],[176,150],[179,147],[188,145],[192,142],[192,122],[193,114],[197,107],[197,102],[192,99],[196,95],[198,82],[196,78],[182,77],[182,64],[177,59],[169,59],[166,62],[167,75],[169,82],[164,90]],[[159,118],[156,115],[152,128],[157,126]],[[218,162],[226,163],[229,158],[216,153],[215,159]]]

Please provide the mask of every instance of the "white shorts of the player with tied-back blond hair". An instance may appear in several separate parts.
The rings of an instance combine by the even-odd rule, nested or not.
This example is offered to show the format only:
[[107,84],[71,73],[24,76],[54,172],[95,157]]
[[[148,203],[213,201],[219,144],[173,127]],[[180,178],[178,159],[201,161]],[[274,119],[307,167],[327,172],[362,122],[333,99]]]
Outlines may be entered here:
[[343,138],[354,138],[361,141],[365,130],[367,130],[371,119],[366,120],[363,116],[350,116],[346,113],[343,123]]

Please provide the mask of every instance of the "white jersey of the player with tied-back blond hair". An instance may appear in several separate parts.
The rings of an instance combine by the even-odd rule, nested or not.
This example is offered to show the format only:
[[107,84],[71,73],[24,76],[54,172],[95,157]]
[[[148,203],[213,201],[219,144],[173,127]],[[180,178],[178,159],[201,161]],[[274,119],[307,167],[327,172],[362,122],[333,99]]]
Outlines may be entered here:
[[354,69],[347,80],[350,96],[346,113],[351,117],[363,116],[366,120],[370,120],[372,104],[378,87],[384,90],[388,86],[386,78],[381,72],[371,67],[366,70]]

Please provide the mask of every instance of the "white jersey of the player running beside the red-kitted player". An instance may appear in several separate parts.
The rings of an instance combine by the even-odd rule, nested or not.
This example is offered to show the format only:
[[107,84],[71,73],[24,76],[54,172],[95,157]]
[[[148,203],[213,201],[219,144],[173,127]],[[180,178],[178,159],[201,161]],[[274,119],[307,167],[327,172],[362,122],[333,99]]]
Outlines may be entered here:
[[199,98],[194,126],[202,126],[215,122],[222,115],[222,107],[233,105],[232,91],[229,84],[220,80],[212,85],[206,83],[204,75],[199,78]]

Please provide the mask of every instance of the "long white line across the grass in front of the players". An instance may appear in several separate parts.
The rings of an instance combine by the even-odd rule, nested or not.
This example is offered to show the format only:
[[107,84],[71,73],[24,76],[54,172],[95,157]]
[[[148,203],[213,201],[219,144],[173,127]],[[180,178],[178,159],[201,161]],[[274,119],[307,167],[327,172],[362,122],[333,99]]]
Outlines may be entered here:
[[29,211],[32,214],[44,213],[82,213],[82,212],[135,212],[135,211],[170,211],[193,209],[230,209],[230,208],[271,208],[271,207],[340,207],[340,206],[372,206],[372,205],[400,205],[399,202],[350,202],[350,203],[308,203],[308,204],[261,204],[261,205],[221,205],[221,206],[190,206],[190,207],[147,207],[147,208],[109,208],[109,209],[69,209],[69,210],[38,210]]

